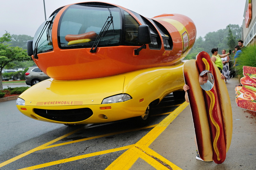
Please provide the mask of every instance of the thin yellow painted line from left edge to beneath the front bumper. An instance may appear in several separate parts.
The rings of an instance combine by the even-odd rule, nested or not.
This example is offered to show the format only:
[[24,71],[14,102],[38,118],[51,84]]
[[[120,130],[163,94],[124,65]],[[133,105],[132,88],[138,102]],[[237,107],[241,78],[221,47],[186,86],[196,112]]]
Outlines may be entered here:
[[9,160],[7,160],[7,161],[1,163],[1,164],[0,164],[0,167],[3,167],[3,166],[5,166],[5,165],[7,165],[7,164],[9,164],[9,163],[11,163],[11,162],[13,162],[13,161],[15,161],[15,160],[18,160],[18,159],[20,159],[20,158],[22,158],[22,157],[24,157],[24,156],[27,156],[27,155],[29,155],[30,153],[36,152],[36,151],[38,151],[38,150],[41,150],[41,148],[43,148],[43,147],[45,147],[45,146],[48,146],[48,145],[51,145],[52,143],[57,142],[57,141],[59,141],[60,139],[66,138],[66,137],[68,137],[69,135],[72,135],[72,134],[74,134],[74,133],[76,133],[76,132],[78,132],[78,131],[81,131],[82,129],[84,129],[84,127],[79,128],[79,129],[76,129],[75,131],[72,131],[72,132],[70,132],[70,133],[68,133],[68,134],[66,134],[66,135],[63,135],[63,136],[61,136],[61,137],[59,137],[59,138],[56,138],[56,139],[54,139],[54,140],[52,140],[52,141],[50,141],[50,142],[47,142],[47,143],[45,143],[44,145],[38,146],[38,147],[36,147],[36,148],[34,148],[34,149],[31,149],[31,150],[28,151],[28,152],[22,153],[22,154],[20,154],[19,156],[16,156],[16,157],[14,157],[14,158],[12,158],[12,159],[9,159]]

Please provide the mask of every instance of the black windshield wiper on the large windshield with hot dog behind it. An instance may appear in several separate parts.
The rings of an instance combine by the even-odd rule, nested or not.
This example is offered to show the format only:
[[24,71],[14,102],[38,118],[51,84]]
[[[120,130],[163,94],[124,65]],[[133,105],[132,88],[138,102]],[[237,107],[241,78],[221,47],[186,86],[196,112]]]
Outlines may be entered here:
[[[101,30],[100,30],[99,35],[98,35],[97,38],[95,39],[95,41],[94,41],[94,43],[93,43],[93,45],[92,45],[92,48],[91,48],[91,50],[90,50],[91,53],[95,53],[95,52],[96,52],[96,50],[97,50],[97,48],[98,48],[98,46],[99,46],[100,40],[102,39],[102,37],[105,36],[105,34],[106,34],[106,32],[108,31],[108,28],[110,27],[111,24],[113,25],[113,33],[114,33],[113,16],[112,16],[111,11],[109,10],[109,8],[108,8],[108,11],[109,11],[109,13],[110,13],[110,16],[108,16],[106,22],[104,23],[103,27],[102,27]],[[97,45],[94,47],[94,45],[95,45],[96,41],[98,40],[98,38],[99,38],[99,41],[98,41]],[[94,47],[94,49],[93,49],[93,47]]]

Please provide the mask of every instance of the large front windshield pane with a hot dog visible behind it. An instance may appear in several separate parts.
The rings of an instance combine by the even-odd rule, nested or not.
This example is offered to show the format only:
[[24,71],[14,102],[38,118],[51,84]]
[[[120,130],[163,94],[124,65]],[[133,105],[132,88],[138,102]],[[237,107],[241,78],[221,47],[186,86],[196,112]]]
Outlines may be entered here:
[[[121,11],[117,7],[71,5],[61,16],[58,27],[60,48],[92,48],[120,44]],[[112,23],[103,29],[109,17]],[[102,33],[101,31],[104,31]],[[101,39],[98,35],[103,34]]]

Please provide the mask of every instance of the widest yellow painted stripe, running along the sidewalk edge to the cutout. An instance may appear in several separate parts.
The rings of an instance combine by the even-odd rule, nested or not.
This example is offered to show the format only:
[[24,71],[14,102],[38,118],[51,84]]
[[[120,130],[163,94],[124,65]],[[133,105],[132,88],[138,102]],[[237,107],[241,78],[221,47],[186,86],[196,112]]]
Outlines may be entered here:
[[[137,150],[136,148],[143,148],[146,150],[146,148],[148,148],[148,146],[166,129],[166,127],[170,125],[170,123],[181,113],[181,111],[188,106],[188,104],[189,103],[187,102],[182,103],[170,115],[165,117],[164,120],[161,121],[156,127],[154,127],[151,131],[149,131],[148,134],[146,134],[143,138],[141,138],[133,148],[128,149],[126,152],[124,152],[115,161],[113,161],[105,170],[129,169],[137,160],[137,159],[131,159],[132,157],[137,158],[138,154],[140,155],[139,157],[142,157],[141,154],[146,154],[144,152],[136,152]],[[133,156],[131,155],[132,153],[134,153]],[[160,156],[157,154],[156,157],[160,157]],[[160,158],[164,159],[163,157],[160,157]],[[127,160],[129,162],[126,162],[124,160]],[[148,159],[146,159],[145,161],[147,160]],[[178,166],[174,165],[172,162],[170,162],[167,159],[165,159],[165,162],[168,163],[168,165],[172,166],[173,170],[180,169]],[[162,167],[162,165],[159,165],[159,166]],[[156,169],[161,169],[161,168],[156,168]]]

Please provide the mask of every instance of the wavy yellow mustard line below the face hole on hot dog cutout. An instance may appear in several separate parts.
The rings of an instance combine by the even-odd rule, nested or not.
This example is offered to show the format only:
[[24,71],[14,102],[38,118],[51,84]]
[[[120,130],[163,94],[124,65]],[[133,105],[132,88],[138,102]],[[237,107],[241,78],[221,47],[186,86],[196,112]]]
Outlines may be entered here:
[[220,160],[220,152],[219,152],[219,149],[217,147],[217,140],[220,136],[220,126],[217,124],[217,122],[214,120],[213,116],[212,116],[212,110],[213,110],[213,106],[215,104],[215,96],[214,94],[211,92],[211,91],[205,91],[207,93],[207,95],[210,97],[211,99],[211,104],[210,104],[210,109],[209,109],[209,114],[210,114],[210,118],[211,118],[211,121],[212,121],[212,124],[215,126],[216,128],[216,135],[215,135],[215,138],[213,140],[213,148],[214,148],[214,151],[216,152],[217,154],[217,157],[218,157],[218,160]]

